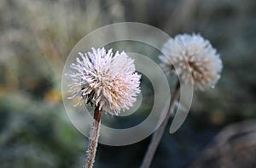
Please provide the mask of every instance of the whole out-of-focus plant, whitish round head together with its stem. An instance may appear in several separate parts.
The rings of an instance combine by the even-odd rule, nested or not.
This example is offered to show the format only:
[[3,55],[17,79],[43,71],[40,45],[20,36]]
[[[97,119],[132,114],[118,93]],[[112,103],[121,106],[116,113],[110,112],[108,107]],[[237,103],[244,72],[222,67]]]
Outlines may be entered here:
[[160,55],[160,60],[168,73],[177,73],[179,81],[177,81],[177,86],[174,88],[168,114],[153,134],[147,153],[144,156],[143,165],[141,165],[142,168],[148,168],[153,160],[154,153],[171,117],[172,106],[176,101],[180,82],[193,85],[196,90],[203,91],[215,86],[223,68],[216,49],[212,48],[211,43],[201,35],[177,35],[174,37],[176,43],[172,41],[170,39],[163,46],[162,51],[167,55]]

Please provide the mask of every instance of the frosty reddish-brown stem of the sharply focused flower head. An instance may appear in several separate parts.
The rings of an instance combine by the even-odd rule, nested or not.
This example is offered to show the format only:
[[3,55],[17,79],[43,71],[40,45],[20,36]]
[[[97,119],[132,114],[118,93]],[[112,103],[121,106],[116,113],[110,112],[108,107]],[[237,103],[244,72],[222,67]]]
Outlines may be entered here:
[[85,168],[91,168],[95,161],[96,148],[98,144],[100,126],[101,126],[101,109],[97,106],[94,111],[94,121],[90,130],[90,139],[86,152]]

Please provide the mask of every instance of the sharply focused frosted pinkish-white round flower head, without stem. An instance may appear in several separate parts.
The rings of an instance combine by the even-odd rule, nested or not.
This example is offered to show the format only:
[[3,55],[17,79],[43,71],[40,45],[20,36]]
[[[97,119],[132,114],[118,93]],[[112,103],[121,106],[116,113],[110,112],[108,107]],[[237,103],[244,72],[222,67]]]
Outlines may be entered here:
[[92,52],[79,53],[70,65],[69,93],[79,98],[79,104],[94,104],[103,111],[118,115],[137,100],[141,76],[135,70],[134,60],[125,52],[108,52],[105,48],[92,48]]

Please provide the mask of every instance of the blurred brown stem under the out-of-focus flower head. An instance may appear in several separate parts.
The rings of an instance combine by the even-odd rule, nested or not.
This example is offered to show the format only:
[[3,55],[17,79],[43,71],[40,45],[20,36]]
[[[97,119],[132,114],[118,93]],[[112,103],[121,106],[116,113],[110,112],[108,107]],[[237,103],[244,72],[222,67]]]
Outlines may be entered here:
[[165,132],[168,120],[170,119],[170,117],[172,115],[172,110],[171,109],[172,109],[172,106],[173,106],[177,96],[178,96],[179,88],[180,88],[180,84],[177,81],[177,85],[176,85],[175,90],[173,92],[171,102],[169,104],[169,108],[168,108],[168,111],[167,111],[166,118],[165,118],[165,120],[163,120],[160,127],[154,132],[154,134],[152,136],[152,139],[151,139],[151,142],[148,145],[147,153],[144,155],[143,164],[141,165],[141,168],[148,168],[151,165],[151,162],[153,160],[156,149],[157,149],[157,147],[160,143],[161,137],[163,136],[163,134]]

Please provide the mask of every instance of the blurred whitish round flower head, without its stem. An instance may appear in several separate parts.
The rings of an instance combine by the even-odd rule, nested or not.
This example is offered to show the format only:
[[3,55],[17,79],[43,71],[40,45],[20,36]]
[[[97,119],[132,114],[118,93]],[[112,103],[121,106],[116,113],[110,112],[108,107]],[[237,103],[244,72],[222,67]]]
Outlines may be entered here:
[[[164,68],[177,72],[182,82],[194,82],[195,89],[214,87],[222,70],[222,61],[211,43],[199,34],[183,34],[168,40],[160,55]],[[187,66],[189,64],[189,66]]]

